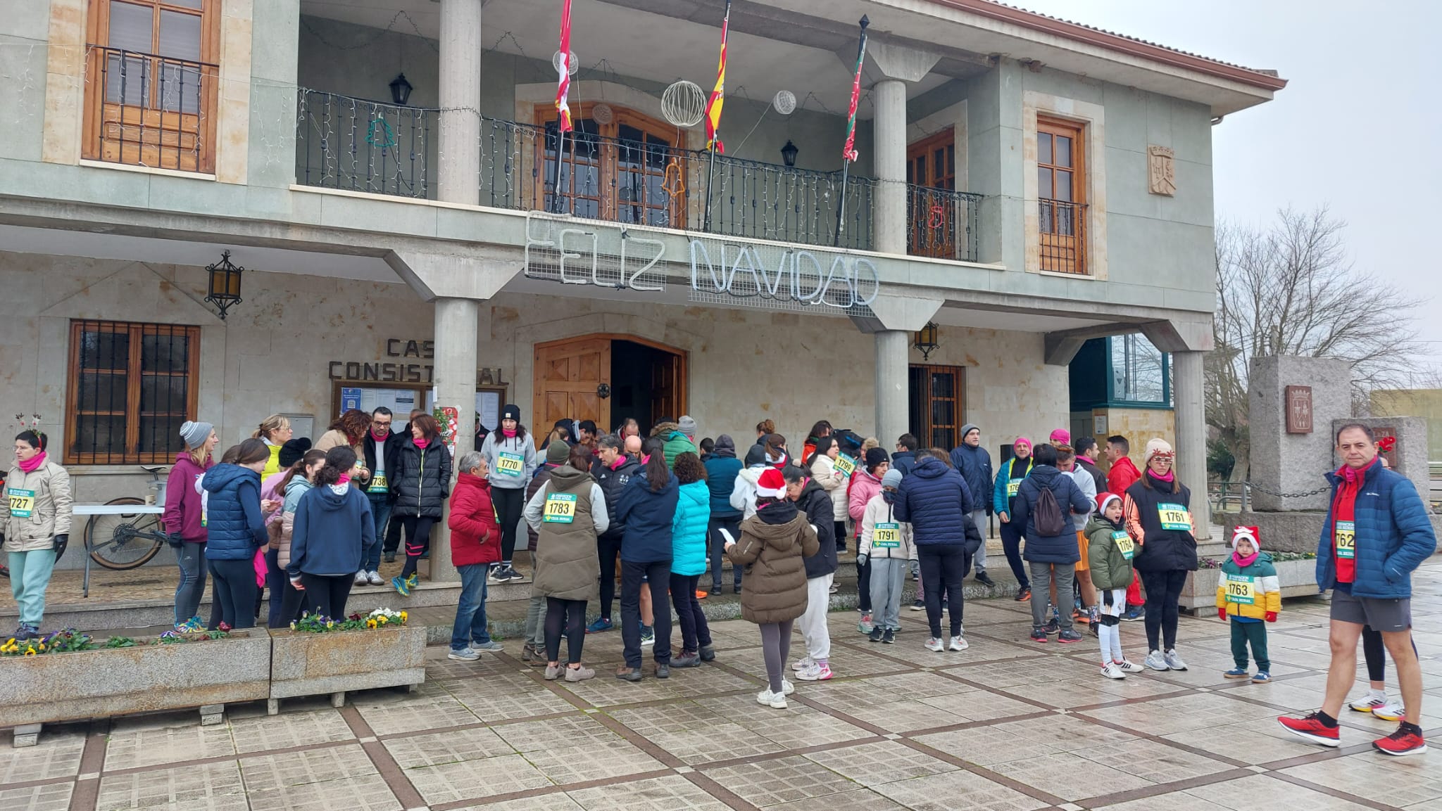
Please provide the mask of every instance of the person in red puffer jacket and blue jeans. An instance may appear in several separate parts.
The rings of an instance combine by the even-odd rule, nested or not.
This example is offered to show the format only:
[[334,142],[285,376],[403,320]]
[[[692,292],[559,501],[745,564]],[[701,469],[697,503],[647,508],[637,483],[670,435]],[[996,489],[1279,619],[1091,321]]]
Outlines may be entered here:
[[479,451],[460,458],[460,477],[446,526],[451,530],[451,563],[460,572],[450,658],[476,661],[480,651],[503,650],[486,628],[486,570],[500,562],[500,527],[490,503],[486,458]]

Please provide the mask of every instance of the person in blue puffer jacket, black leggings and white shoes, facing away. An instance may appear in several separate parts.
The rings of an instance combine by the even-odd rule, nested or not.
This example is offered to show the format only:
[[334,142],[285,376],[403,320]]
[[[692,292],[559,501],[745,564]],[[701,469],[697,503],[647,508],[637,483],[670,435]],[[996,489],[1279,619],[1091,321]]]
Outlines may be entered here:
[[[926,592],[926,619],[932,638],[926,650],[965,651],[962,635],[962,578],[966,576],[966,527],[972,521],[972,494],[962,474],[929,451],[916,454],[916,467],[901,480],[895,497],[895,519],[911,524],[916,556],[921,563],[921,591]],[[942,601],[952,605],[952,641],[942,637]]]

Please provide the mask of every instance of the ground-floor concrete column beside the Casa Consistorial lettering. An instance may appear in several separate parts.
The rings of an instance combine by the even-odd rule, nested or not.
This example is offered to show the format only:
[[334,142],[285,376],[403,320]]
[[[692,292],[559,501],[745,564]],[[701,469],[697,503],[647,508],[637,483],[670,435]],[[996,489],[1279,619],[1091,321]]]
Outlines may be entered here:
[[[451,464],[454,490],[456,461],[476,449],[476,328],[480,303],[473,298],[435,300],[435,405],[456,406],[456,458]],[[447,511],[450,506],[447,504]],[[431,530],[431,581],[459,579],[450,559],[450,532],[444,521]],[[444,532],[443,532],[444,530]]]

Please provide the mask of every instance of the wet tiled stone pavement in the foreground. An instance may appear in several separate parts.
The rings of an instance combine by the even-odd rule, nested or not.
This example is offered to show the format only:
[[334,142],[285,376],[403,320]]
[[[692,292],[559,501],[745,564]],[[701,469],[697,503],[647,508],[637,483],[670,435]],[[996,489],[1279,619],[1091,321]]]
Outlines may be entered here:
[[[1442,559],[1416,578],[1423,727],[1442,743]],[[0,810],[112,811],[1110,811],[1442,810],[1442,753],[1387,758],[1393,725],[1347,713],[1340,750],[1291,739],[1272,716],[1311,709],[1327,666],[1327,604],[1289,601],[1272,628],[1275,683],[1221,678],[1227,628],[1184,618],[1191,670],[1126,681],[1096,674],[1096,642],[1037,645],[1011,601],[966,606],[970,650],[921,648],[921,614],[895,645],[832,615],[829,683],[787,710],[756,703],[753,625],[717,624],[720,655],[640,684],[610,677],[619,634],[587,640],[593,681],[545,683],[516,644],[479,663],[433,648],[411,694],[324,699],[48,727],[0,736]],[[1123,624],[1141,658],[1142,625]],[[800,655],[796,637],[792,647]],[[97,674],[104,677],[104,674]],[[1394,687],[1393,687],[1394,690]],[[3,700],[3,699],[0,699]]]

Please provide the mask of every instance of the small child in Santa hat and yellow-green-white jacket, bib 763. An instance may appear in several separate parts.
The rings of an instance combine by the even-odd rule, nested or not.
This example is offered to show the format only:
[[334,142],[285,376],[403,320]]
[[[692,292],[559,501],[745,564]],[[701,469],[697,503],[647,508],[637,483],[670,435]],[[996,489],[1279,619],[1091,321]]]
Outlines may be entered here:
[[1272,661],[1266,653],[1266,622],[1276,622],[1282,611],[1282,588],[1276,581],[1272,556],[1262,552],[1257,527],[1236,527],[1231,533],[1231,557],[1221,565],[1217,581],[1217,617],[1231,618],[1231,660],[1236,667],[1223,673],[1227,678],[1246,678],[1247,644],[1257,660],[1252,681],[1272,680]]

